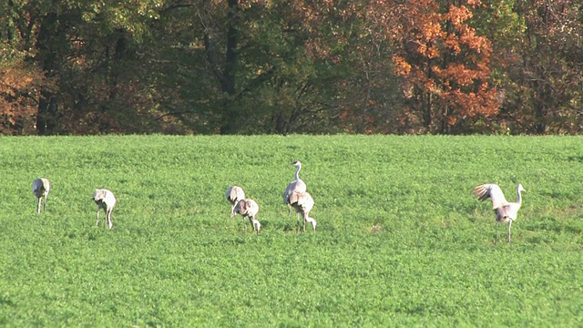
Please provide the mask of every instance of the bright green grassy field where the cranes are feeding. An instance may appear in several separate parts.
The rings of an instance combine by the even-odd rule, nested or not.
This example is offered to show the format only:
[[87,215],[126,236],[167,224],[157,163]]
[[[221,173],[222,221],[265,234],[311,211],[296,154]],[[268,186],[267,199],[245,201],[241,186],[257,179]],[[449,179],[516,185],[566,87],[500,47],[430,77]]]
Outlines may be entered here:
[[[3,137],[0,158],[2,326],[583,325],[583,138]],[[315,232],[282,204],[295,159]],[[486,182],[527,190],[511,244]]]

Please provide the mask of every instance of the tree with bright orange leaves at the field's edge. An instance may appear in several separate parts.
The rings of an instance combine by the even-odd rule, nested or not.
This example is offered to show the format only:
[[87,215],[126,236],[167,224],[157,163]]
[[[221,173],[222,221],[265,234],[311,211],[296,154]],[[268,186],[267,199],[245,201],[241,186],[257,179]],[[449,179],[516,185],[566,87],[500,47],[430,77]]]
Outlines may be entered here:
[[393,12],[396,73],[411,114],[431,133],[497,113],[489,82],[492,45],[468,25],[479,0],[406,0]]

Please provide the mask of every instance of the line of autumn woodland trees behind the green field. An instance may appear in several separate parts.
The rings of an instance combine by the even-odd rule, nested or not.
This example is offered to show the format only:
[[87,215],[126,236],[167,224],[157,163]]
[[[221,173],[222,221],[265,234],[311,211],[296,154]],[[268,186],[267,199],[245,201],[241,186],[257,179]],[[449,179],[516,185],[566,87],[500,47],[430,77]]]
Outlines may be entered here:
[[577,134],[574,0],[1,0],[0,133]]

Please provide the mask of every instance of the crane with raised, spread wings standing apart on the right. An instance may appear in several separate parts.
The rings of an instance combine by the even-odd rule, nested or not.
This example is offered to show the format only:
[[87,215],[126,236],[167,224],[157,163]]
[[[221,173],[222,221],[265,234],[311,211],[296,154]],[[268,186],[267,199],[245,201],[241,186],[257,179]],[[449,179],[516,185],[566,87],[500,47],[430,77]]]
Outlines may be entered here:
[[498,223],[500,222],[508,223],[507,237],[508,242],[510,242],[510,227],[512,226],[512,221],[517,220],[518,210],[522,205],[521,191],[527,190],[521,184],[518,184],[516,202],[508,202],[500,187],[494,183],[479,185],[472,191],[478,200],[486,200],[488,198],[492,200],[492,209],[496,210],[496,243],[498,242]]

